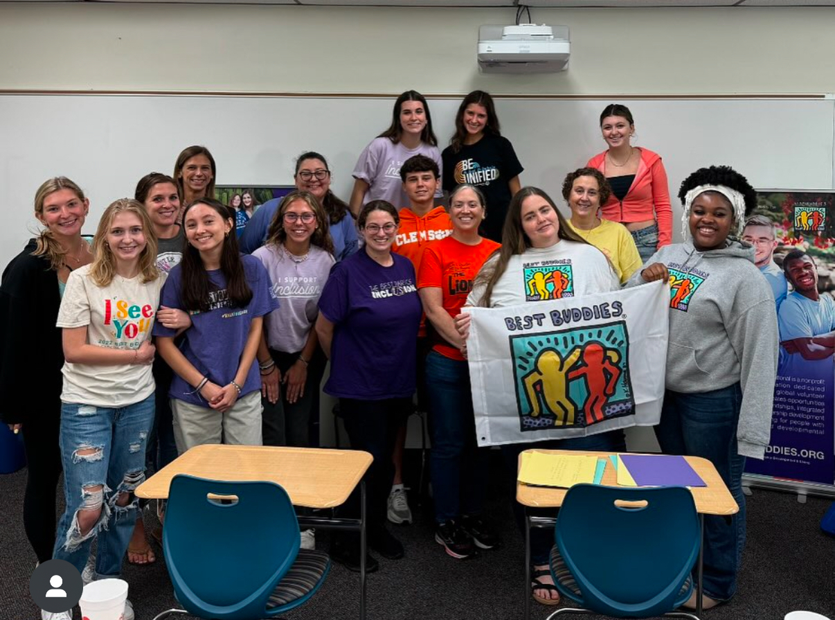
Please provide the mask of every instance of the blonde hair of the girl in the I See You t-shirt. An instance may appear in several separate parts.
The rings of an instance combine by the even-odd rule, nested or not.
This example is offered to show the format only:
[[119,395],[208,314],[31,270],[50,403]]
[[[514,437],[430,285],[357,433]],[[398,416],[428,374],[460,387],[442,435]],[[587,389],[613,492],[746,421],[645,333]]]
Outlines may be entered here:
[[139,254],[139,273],[142,274],[142,282],[153,282],[159,277],[159,270],[156,267],[157,239],[154,233],[154,225],[151,223],[148,212],[139,201],[130,198],[119,198],[104,210],[102,219],[99,220],[99,228],[93,237],[93,262],[90,265],[90,277],[93,278],[98,287],[106,287],[113,282],[116,275],[116,261],[110,246],[107,242],[107,234],[113,224],[114,217],[119,213],[133,213],[142,222],[142,231],[145,236],[145,247]]

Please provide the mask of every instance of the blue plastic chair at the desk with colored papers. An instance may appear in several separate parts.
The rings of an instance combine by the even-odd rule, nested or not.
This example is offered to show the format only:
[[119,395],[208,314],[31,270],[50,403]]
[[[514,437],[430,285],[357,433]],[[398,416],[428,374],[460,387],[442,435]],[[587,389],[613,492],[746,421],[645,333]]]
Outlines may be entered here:
[[551,576],[559,592],[584,608],[558,609],[549,618],[582,612],[696,618],[667,613],[681,607],[694,587],[701,527],[689,490],[572,486],[559,509],[555,539]]

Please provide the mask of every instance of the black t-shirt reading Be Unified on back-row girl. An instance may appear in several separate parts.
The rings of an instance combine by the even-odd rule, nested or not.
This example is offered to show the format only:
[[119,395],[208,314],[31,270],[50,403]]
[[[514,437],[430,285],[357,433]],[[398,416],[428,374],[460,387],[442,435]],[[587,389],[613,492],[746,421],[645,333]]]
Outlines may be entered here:
[[485,134],[474,145],[463,145],[458,153],[453,153],[453,148],[448,146],[441,159],[444,191],[453,191],[462,183],[483,191],[487,198],[487,219],[481,225],[481,234],[501,243],[504,216],[511,198],[508,181],[524,170],[510,140]]

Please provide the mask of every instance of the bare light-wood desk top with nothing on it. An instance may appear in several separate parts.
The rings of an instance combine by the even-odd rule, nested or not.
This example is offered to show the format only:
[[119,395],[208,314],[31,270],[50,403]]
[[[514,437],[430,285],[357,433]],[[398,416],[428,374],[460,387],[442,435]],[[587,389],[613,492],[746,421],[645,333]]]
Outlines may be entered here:
[[198,445],[145,480],[136,495],[166,499],[177,474],[212,480],[269,480],[290,495],[295,506],[333,508],[354,490],[372,455],[360,450],[278,448],[268,445]]

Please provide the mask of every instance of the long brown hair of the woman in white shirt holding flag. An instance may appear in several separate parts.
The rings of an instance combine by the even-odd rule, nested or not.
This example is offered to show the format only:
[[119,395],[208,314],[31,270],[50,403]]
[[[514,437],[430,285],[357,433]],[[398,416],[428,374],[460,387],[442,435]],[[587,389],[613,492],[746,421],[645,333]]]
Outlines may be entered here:
[[[496,286],[498,279],[502,277],[505,271],[507,271],[510,258],[517,254],[524,254],[525,250],[531,246],[530,239],[524,233],[524,228],[522,227],[522,203],[524,202],[524,199],[529,196],[539,196],[546,201],[554,209],[554,211],[556,211],[557,220],[559,221],[559,231],[557,231],[559,239],[564,239],[565,241],[576,241],[577,243],[583,243],[587,246],[591,245],[589,241],[586,241],[583,237],[579,236],[576,232],[574,232],[571,226],[568,225],[568,222],[563,217],[563,214],[559,212],[559,209],[548,194],[540,190],[539,187],[523,187],[521,190],[517,191],[514,197],[510,200],[510,204],[508,206],[508,216],[504,218],[502,246],[496,250],[496,252],[493,252],[493,256],[488,258],[487,262],[484,262],[484,266],[475,278],[475,286],[486,285],[484,295],[478,302],[478,305],[480,306],[489,307],[490,296],[493,294],[493,287]],[[498,256],[498,258],[494,259],[493,257],[495,256]]]

